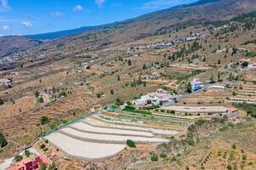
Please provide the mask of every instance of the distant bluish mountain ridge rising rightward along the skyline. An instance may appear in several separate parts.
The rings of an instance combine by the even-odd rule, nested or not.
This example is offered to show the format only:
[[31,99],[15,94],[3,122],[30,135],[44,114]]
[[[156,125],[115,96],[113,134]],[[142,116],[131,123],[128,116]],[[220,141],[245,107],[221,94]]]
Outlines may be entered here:
[[[132,20],[125,20],[122,22],[115,22],[102,26],[83,26],[77,29],[66,31],[55,31],[36,35],[27,35],[25,37],[35,40],[47,40],[60,37],[74,36],[83,32],[96,31],[109,27],[119,27],[126,24],[134,24],[133,27],[137,27],[138,24],[147,26],[149,24],[155,24],[160,26],[172,26],[180,23],[183,20],[197,19],[197,20],[220,20],[225,19],[237,14],[248,12],[248,10],[254,9],[255,1],[253,0],[201,0],[196,3],[190,3],[188,5],[180,5],[177,7],[167,8],[161,11],[157,11],[151,14],[145,14]],[[234,10],[233,10],[234,9]],[[177,19],[177,20],[175,20]],[[142,23],[144,22],[144,23]],[[151,26],[152,27],[152,26]],[[130,28],[129,28],[130,29]],[[159,28],[160,29],[160,28]],[[145,31],[144,29],[142,31]],[[149,32],[147,32],[149,33]],[[145,34],[147,34],[145,32]],[[150,32],[152,34],[152,32]]]

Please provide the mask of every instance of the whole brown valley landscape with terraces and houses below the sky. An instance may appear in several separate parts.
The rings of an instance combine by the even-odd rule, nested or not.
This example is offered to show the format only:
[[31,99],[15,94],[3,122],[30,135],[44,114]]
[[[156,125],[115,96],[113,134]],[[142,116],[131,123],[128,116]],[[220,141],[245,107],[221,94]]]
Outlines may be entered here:
[[255,9],[200,1],[15,40],[0,58],[0,167],[32,148],[58,169],[255,169]]

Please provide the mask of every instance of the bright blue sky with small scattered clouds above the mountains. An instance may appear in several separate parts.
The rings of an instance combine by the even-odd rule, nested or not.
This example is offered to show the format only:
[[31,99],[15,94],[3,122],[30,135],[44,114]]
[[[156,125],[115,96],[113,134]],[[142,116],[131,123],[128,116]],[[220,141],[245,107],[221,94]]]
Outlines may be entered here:
[[126,20],[197,0],[0,0],[0,36]]

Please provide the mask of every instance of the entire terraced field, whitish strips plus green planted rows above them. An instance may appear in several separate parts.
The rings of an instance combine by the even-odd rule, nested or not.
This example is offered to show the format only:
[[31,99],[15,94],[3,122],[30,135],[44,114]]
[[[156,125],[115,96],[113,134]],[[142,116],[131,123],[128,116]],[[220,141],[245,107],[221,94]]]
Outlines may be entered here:
[[[44,139],[67,156],[98,160],[119,154],[125,149],[127,139],[131,139],[135,144],[160,144],[168,142],[172,135],[181,132],[177,128],[157,127],[158,124],[166,121],[171,122],[171,117],[151,116],[151,118],[155,121],[148,116],[129,112],[102,111],[50,133]],[[131,121],[132,119],[140,121]],[[150,126],[150,122],[156,124]],[[189,123],[188,120],[175,118],[172,122],[183,124],[183,126],[179,125],[180,129]]]

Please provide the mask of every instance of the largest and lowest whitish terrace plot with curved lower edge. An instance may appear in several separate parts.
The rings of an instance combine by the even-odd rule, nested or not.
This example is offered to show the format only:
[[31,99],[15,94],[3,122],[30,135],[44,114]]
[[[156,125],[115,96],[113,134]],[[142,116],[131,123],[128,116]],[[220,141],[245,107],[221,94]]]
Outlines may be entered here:
[[61,133],[51,133],[46,136],[51,144],[66,152],[69,156],[75,156],[87,159],[101,159],[108,156],[114,156],[119,151],[125,149],[125,144],[100,144],[85,142],[70,138]]

